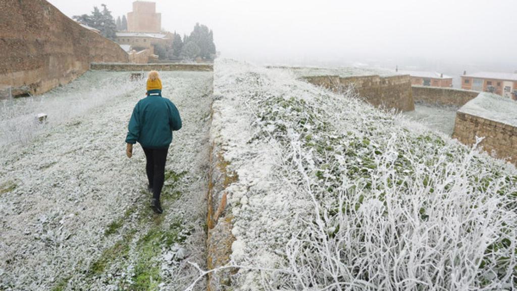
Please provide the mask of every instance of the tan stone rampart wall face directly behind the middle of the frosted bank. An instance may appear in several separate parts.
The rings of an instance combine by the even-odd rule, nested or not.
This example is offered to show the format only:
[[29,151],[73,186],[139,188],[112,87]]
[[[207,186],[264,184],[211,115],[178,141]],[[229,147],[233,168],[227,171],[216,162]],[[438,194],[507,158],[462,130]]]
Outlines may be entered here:
[[303,77],[311,84],[323,86],[334,92],[353,85],[359,95],[376,107],[413,111],[415,104],[408,75],[381,77],[374,76],[311,76]]

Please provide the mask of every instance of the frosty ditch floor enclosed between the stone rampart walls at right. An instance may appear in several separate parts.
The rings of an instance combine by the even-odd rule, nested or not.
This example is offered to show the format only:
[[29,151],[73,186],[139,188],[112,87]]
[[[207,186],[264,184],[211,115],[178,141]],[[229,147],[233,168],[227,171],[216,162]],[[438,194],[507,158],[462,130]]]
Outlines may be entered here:
[[415,104],[414,111],[402,113],[407,118],[422,123],[436,132],[451,136],[456,119],[455,107],[439,107],[425,104]]

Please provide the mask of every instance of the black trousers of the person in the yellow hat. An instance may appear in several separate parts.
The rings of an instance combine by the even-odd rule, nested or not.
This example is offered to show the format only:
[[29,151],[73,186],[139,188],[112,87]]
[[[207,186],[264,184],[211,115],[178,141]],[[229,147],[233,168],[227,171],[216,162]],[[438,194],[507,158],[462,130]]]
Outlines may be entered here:
[[163,180],[165,179],[165,160],[167,159],[166,149],[146,149],[144,148],[147,164],[145,171],[149,180],[149,187],[153,188],[153,198],[160,200]]

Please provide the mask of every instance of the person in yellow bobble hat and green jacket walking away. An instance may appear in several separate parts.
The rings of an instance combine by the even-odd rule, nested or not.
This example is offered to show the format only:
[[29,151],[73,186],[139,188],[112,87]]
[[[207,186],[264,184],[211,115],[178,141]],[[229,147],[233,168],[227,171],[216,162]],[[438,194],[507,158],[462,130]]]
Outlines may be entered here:
[[162,97],[162,84],[157,71],[150,71],[147,97],[138,101],[131,114],[126,136],[126,154],[133,155],[133,144],[140,143],[145,153],[148,190],[153,193],[151,208],[163,213],[160,195],[165,179],[165,160],[172,142],[172,131],[181,129],[178,109]]

